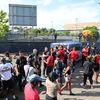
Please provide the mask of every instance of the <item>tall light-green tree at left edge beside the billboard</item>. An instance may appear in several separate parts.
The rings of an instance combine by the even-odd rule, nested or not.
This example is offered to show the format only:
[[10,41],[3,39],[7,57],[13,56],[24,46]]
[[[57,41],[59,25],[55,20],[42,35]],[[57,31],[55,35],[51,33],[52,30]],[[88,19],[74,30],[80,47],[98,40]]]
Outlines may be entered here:
[[8,19],[7,13],[3,12],[3,10],[0,11],[0,39],[3,40],[7,36],[7,32],[9,32],[9,26],[7,25]]

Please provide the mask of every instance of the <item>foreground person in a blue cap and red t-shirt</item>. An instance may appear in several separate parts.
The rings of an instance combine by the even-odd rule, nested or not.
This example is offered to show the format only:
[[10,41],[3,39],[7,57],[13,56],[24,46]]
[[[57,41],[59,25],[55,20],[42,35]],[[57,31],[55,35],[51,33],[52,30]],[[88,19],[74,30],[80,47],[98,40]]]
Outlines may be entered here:
[[24,88],[25,100],[40,100],[39,93],[36,89],[40,81],[42,81],[42,78],[36,74],[29,77],[29,82]]

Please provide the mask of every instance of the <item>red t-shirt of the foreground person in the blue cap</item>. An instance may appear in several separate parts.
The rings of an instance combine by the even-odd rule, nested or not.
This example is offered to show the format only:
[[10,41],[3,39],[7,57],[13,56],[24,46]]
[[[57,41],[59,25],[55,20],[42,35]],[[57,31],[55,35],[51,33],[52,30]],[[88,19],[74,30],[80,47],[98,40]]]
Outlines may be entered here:
[[24,89],[25,100],[40,100],[38,91],[32,89],[31,84],[28,83]]

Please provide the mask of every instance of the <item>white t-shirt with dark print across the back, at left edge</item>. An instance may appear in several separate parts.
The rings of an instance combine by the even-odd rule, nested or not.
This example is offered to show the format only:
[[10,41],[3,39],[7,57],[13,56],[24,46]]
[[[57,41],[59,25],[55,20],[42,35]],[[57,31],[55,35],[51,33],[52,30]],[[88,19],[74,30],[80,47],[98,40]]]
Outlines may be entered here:
[[6,64],[0,64],[0,75],[1,80],[9,80],[12,77],[11,68],[13,68],[13,65],[11,63]]

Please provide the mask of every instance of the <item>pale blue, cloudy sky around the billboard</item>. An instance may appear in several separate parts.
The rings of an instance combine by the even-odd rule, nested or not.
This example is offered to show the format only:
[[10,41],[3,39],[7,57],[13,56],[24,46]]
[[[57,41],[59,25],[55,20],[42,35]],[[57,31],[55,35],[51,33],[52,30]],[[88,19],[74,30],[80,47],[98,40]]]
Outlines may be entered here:
[[0,10],[8,4],[37,5],[37,28],[63,29],[65,24],[100,22],[100,0],[0,0]]

